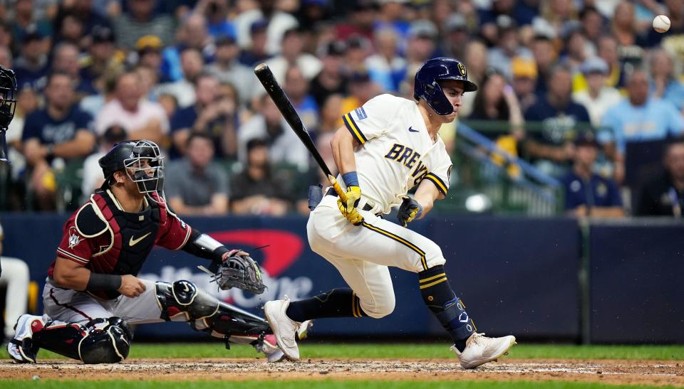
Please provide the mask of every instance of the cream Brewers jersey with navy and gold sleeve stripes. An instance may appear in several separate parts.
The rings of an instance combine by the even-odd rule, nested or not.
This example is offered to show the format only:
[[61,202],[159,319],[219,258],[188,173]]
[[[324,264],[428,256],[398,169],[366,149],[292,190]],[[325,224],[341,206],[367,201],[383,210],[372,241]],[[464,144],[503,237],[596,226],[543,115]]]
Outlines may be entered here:
[[373,211],[389,213],[423,178],[447,194],[450,156],[439,135],[432,142],[414,101],[380,95],[345,114],[343,121],[361,144],[354,154],[356,171],[361,196],[375,204]]

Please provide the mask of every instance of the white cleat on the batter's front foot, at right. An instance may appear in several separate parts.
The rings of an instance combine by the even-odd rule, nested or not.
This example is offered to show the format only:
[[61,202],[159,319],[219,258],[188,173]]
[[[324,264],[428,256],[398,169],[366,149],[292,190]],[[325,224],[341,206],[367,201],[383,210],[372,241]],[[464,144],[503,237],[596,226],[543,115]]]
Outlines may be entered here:
[[463,368],[477,368],[484,363],[496,361],[497,358],[508,353],[509,349],[515,344],[515,336],[508,335],[501,338],[487,338],[477,332],[473,333],[466,341],[465,350],[458,351],[456,346],[452,346],[458,356],[458,361]]

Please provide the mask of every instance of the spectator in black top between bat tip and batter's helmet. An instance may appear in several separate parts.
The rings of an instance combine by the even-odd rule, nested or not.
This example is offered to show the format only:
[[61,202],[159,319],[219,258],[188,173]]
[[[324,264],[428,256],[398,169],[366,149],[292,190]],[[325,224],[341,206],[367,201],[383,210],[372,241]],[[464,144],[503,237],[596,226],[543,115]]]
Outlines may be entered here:
[[321,106],[329,96],[347,92],[347,75],[343,72],[343,58],[346,52],[346,44],[342,41],[333,41],[323,46],[319,56],[321,57],[321,73],[311,80],[309,92]]

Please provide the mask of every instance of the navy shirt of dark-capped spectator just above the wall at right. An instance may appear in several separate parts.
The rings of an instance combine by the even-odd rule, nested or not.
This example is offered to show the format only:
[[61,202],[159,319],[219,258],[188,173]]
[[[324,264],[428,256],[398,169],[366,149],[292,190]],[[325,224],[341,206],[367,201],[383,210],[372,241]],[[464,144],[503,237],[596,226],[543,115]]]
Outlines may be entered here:
[[565,186],[565,209],[575,209],[579,206],[592,207],[621,207],[622,198],[616,183],[598,174],[592,174],[589,182],[570,171],[561,178]]

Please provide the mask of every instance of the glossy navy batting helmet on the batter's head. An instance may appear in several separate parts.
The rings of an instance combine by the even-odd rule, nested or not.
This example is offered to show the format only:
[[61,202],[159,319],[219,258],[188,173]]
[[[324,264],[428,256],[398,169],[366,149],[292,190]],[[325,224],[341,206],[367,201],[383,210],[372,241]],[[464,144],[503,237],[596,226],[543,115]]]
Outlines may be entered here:
[[423,99],[430,105],[437,114],[450,114],[454,112],[447,97],[442,91],[442,87],[437,82],[439,80],[457,80],[463,82],[464,92],[477,90],[475,82],[468,80],[468,71],[465,65],[455,58],[432,58],[427,60],[423,66],[415,73],[415,83],[413,84],[413,98]]

